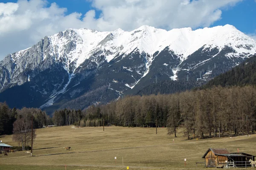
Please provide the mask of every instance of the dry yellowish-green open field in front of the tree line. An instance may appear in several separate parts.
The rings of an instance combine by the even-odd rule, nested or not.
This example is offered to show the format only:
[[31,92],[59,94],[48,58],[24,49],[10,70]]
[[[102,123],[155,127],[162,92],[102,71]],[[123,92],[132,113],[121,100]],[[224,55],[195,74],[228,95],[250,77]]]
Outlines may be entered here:
[[[256,135],[186,140],[182,130],[174,138],[167,135],[166,128],[157,128],[155,134],[155,128],[114,126],[105,127],[105,131],[102,127],[50,127],[37,129],[36,134],[34,156],[25,151],[1,154],[0,170],[65,170],[65,164],[67,170],[126,170],[127,166],[130,170],[198,170],[204,164],[196,167],[195,162],[204,162],[201,157],[209,147],[227,148],[230,152],[239,148],[240,152],[256,155]],[[0,139],[18,145],[12,136]],[[71,150],[65,151],[63,147]]]

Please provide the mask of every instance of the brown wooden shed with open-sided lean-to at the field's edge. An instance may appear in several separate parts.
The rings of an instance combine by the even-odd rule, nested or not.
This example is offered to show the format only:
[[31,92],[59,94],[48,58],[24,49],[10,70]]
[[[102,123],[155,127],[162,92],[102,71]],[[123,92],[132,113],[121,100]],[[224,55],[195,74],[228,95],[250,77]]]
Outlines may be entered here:
[[247,153],[230,153],[227,149],[209,148],[202,157],[205,167],[250,167],[249,159],[255,156]]

